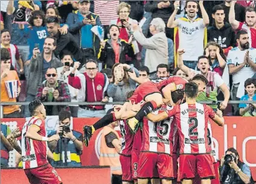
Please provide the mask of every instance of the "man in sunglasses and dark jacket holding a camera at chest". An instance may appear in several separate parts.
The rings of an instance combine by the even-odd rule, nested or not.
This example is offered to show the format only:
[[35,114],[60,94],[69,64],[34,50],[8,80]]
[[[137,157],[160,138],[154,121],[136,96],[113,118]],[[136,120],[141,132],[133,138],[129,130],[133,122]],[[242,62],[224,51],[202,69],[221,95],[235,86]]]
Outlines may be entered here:
[[[56,68],[48,68],[45,74],[46,80],[37,89],[36,99],[42,102],[69,102],[68,84],[58,80]],[[62,109],[69,109],[66,106],[46,106],[46,115],[56,116]]]

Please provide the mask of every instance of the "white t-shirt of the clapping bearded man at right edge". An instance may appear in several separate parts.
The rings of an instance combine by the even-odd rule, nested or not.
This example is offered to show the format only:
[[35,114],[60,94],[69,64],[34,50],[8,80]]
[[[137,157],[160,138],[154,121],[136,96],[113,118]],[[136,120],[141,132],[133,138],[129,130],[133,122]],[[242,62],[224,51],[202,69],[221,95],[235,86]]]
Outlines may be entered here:
[[[232,48],[228,52],[228,65],[238,66],[243,63],[246,51],[248,50],[241,51],[238,47]],[[256,49],[249,49],[249,57],[254,63],[256,63]],[[240,71],[232,74],[233,84],[242,83],[246,79],[251,78],[254,74],[254,69],[252,69],[251,66],[247,63],[242,69],[240,69]]]

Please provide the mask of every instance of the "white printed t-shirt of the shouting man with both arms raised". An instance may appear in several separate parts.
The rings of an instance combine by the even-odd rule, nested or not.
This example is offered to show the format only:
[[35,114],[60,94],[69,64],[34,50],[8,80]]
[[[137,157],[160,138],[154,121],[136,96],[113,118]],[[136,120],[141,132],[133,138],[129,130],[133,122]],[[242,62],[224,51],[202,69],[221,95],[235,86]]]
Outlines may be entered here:
[[179,48],[185,49],[183,60],[197,61],[203,55],[205,25],[203,19],[194,22],[177,19],[179,27]]

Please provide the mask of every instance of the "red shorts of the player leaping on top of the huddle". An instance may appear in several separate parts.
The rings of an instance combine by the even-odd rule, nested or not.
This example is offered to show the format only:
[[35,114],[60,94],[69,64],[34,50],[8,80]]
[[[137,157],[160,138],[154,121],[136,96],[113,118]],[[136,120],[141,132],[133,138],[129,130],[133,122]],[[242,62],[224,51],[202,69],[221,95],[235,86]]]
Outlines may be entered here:
[[161,94],[161,92],[159,91],[158,87],[156,87],[156,85],[154,83],[149,81],[149,82],[140,84],[136,88],[136,90],[133,93],[132,97],[129,98],[129,100],[132,101],[132,103],[138,104],[142,100],[145,100],[147,95],[151,95],[151,94],[155,94],[155,93]]

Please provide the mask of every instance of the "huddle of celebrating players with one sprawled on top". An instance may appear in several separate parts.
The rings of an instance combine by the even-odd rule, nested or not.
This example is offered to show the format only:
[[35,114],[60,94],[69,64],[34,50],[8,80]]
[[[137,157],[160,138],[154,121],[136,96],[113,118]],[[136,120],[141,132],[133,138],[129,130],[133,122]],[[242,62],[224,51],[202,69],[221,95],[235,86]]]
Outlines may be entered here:
[[207,84],[199,74],[142,83],[123,106],[84,127],[85,145],[95,130],[120,121],[123,184],[220,183],[210,119],[223,126],[222,111],[196,103]]

